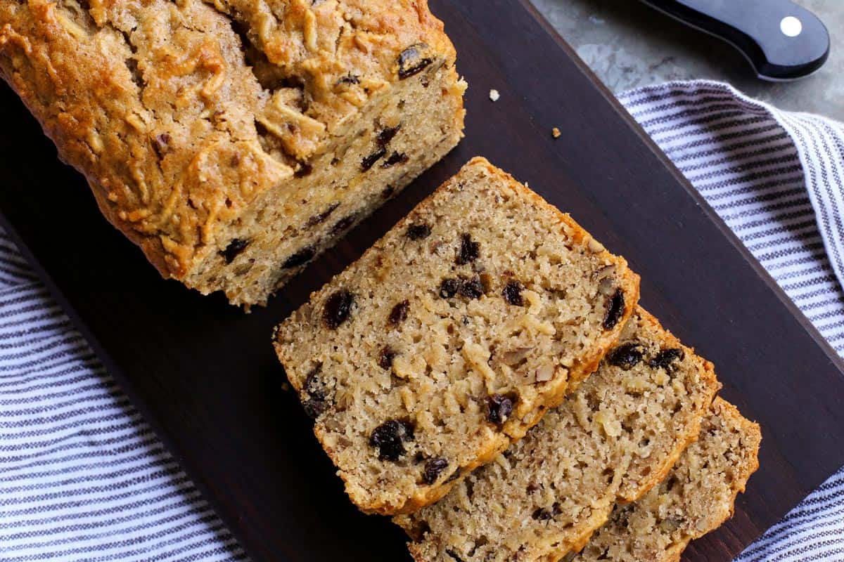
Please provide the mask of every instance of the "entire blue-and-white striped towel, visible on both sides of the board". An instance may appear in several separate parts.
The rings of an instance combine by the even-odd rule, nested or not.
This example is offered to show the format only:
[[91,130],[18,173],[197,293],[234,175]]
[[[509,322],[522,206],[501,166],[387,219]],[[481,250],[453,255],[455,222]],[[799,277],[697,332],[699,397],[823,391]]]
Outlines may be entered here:
[[[720,83],[620,97],[844,354],[844,128]],[[0,560],[246,555],[0,233]],[[844,559],[844,471],[739,557]]]

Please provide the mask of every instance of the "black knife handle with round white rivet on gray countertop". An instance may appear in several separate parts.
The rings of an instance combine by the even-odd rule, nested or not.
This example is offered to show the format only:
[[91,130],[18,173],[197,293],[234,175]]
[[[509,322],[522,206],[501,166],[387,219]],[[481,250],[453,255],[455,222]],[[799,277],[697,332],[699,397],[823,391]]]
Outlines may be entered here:
[[803,78],[830,54],[824,24],[789,0],[642,1],[735,46],[760,78]]

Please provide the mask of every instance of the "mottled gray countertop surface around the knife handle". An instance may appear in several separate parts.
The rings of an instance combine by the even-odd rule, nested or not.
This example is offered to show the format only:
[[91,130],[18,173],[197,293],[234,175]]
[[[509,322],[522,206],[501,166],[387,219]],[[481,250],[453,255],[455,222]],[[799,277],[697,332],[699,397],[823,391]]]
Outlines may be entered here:
[[798,0],[824,21],[832,45],[819,72],[787,83],[756,78],[730,45],[636,0],[532,2],[616,93],[667,80],[710,78],[783,110],[844,121],[844,0]]

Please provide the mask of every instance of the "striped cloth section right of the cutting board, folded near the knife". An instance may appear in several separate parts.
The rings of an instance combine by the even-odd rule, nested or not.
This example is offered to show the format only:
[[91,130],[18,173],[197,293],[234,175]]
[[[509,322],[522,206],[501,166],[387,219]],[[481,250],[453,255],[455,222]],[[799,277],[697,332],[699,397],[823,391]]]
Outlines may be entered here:
[[[667,83],[620,100],[844,356],[844,126],[722,83]],[[738,560],[844,560],[844,469]]]

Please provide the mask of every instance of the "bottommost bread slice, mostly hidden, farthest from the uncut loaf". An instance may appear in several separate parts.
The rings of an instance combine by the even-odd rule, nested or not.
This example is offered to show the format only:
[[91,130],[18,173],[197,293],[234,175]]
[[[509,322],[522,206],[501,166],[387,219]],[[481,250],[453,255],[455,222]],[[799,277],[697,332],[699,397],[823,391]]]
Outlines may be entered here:
[[575,562],[675,562],[694,538],[733,515],[733,504],[759,468],[760,428],[722,399],[701,436],[679,458],[668,478],[636,503],[616,506]]

